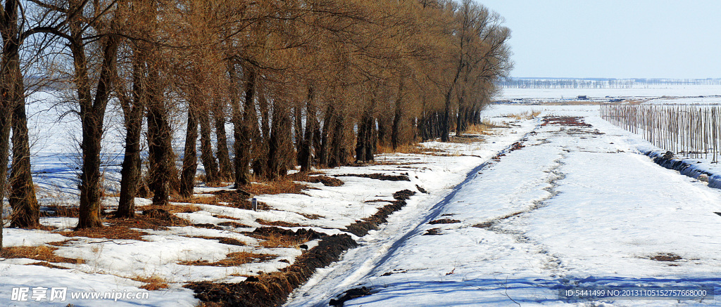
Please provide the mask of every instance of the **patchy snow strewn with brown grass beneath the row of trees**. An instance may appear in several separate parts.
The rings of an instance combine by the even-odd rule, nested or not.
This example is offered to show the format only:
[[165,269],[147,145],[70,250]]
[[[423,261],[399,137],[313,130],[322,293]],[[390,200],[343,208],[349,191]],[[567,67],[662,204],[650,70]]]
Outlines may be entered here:
[[[53,131],[63,131],[63,127],[73,125],[72,122],[50,125],[52,121],[46,120],[48,126],[45,127]],[[393,227],[407,224],[403,219],[427,216],[435,203],[466,179],[469,170],[521,139],[538,124],[537,120],[517,121],[508,117],[494,120],[509,126],[495,129],[493,134],[485,135],[482,142],[477,139],[458,143],[426,142],[422,146],[427,151],[378,155],[376,165],[320,170],[323,175],[344,183],[326,186],[303,182],[306,188],[301,193],[257,195],[257,200],[267,206],[260,211],[234,207],[223,201],[213,202],[211,199],[219,197],[213,193],[229,188],[201,186],[195,189],[193,203],[172,203],[180,211],[172,212],[174,217],[168,220],[180,218],[180,224],[149,226],[143,224],[147,219],[143,218],[135,225],[118,226],[123,221],[108,220],[106,229],[122,233],[89,234],[71,231],[77,222],[74,217],[43,216],[41,224],[55,229],[4,229],[5,247],[32,247],[35,248],[32,251],[39,250],[48,255],[40,257],[32,252],[27,257],[0,258],[0,305],[30,305],[30,302],[12,301],[13,289],[43,287],[48,288],[48,297],[40,297],[39,301],[44,305],[104,306],[107,301],[71,298],[70,293],[143,293],[146,291],[143,289],[156,280],[153,284],[159,284],[159,290],[150,291],[149,298],[143,301],[121,298],[112,306],[195,306],[198,299],[193,297],[193,290],[183,288],[183,285],[199,281],[240,283],[248,278],[279,272],[293,265],[298,256],[319,242],[318,239],[296,242],[293,238],[290,242],[272,242],[273,238],[259,235],[258,229],[275,226],[296,233],[298,229],[311,229],[320,234],[343,234],[348,232],[346,227],[350,224],[373,216],[394,200],[394,193],[416,191],[415,196],[406,201],[404,209],[389,218],[389,225],[394,226],[381,226],[380,230],[371,230],[363,238],[351,236],[361,244],[384,239],[384,235],[396,234]],[[43,129],[37,136],[46,142],[36,151],[40,154],[33,158],[37,163],[35,170],[40,170],[35,182],[41,188],[55,186],[57,196],[63,196],[58,200],[48,195],[43,198],[43,204],[71,204],[74,168],[61,157],[65,156],[62,152],[67,152],[67,147],[72,145],[72,138],[57,139],[52,131]],[[110,141],[112,139],[110,137]],[[112,146],[109,148],[112,151]],[[111,180],[117,175],[115,168],[117,165],[107,170]],[[407,180],[359,177],[375,174]],[[422,191],[425,193],[420,193]],[[207,203],[205,199],[208,199]],[[149,211],[149,201],[143,198],[137,198],[137,201],[138,214]],[[114,206],[117,206],[117,199],[107,198],[106,211],[112,211]],[[366,249],[361,247],[361,250]],[[243,262],[226,265],[234,255],[251,256]],[[66,288],[68,297],[65,301],[50,301],[49,289],[58,287]],[[32,295],[32,290],[28,294]]]

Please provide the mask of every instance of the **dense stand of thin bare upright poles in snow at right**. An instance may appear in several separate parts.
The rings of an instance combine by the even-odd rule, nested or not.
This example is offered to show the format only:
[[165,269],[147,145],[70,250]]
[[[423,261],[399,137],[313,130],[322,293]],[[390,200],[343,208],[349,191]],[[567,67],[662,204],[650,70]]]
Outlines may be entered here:
[[601,118],[642,135],[663,150],[719,160],[721,106],[609,104],[600,111]]

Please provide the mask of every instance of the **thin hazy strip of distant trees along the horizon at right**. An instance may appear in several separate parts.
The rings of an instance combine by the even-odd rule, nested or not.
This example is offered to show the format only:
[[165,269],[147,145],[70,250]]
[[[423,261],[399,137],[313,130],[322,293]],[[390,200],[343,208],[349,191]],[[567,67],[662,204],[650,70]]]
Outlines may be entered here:
[[706,79],[614,79],[614,78],[511,78],[503,88],[640,88],[644,86],[717,86],[721,78]]

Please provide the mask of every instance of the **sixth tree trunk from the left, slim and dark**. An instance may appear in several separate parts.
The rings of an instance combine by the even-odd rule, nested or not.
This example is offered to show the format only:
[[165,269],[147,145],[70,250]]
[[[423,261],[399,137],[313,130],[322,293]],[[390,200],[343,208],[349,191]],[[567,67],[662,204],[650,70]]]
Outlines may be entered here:
[[187,109],[187,130],[185,131],[185,151],[182,157],[182,173],[180,175],[180,197],[193,196],[195,173],[198,171],[198,114],[195,97],[190,98]]

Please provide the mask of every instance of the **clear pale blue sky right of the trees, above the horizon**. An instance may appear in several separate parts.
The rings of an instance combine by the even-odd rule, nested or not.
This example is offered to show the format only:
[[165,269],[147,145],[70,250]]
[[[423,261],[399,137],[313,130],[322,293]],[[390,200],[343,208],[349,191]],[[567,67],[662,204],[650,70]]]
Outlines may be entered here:
[[514,77],[721,78],[720,0],[476,0],[512,31]]

